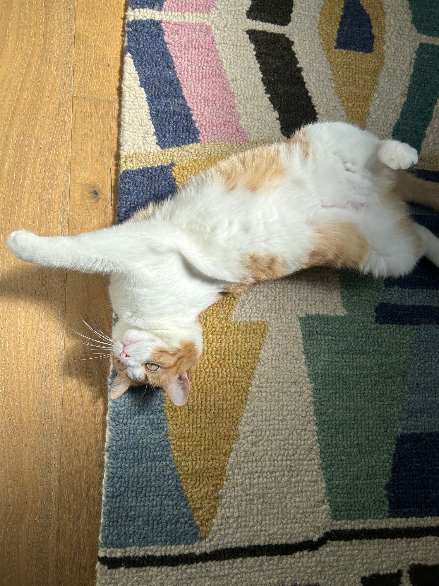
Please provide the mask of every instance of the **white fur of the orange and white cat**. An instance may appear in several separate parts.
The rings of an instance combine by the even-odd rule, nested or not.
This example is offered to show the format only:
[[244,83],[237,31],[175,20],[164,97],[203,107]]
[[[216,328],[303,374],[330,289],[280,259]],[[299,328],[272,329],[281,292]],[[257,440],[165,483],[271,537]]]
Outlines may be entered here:
[[[8,246],[32,263],[111,275],[109,292],[119,316],[114,352],[120,356],[122,344],[129,343],[133,378],[158,346],[186,339],[201,350],[198,316],[225,282],[245,278],[242,261],[249,254],[279,254],[290,272],[300,270],[322,224],[358,224],[371,244],[363,271],[410,271],[420,253],[399,227],[404,212],[380,199],[379,191],[393,181],[389,168],[416,163],[416,151],[343,123],[310,125],[304,132],[312,155],[304,158],[283,144],[287,180],[266,193],[227,192],[208,170],[148,220],[79,236],[47,238],[20,230],[9,235]],[[438,264],[439,240],[424,228],[419,233],[421,252]]]

